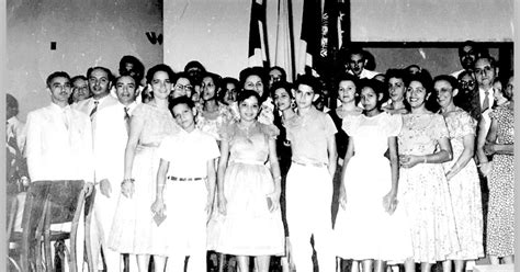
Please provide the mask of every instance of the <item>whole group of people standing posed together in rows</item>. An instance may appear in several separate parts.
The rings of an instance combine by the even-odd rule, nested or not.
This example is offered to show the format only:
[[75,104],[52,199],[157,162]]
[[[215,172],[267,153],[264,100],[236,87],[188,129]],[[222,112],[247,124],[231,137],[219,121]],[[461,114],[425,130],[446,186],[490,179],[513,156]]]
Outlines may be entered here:
[[270,271],[272,257],[298,272],[341,259],[354,272],[513,262],[512,72],[497,80],[472,42],[463,70],[434,78],[370,71],[361,48],[344,59],[328,91],[280,67],[235,79],[190,61],[145,75],[133,56],[118,77],[53,72],[52,103],[29,113],[18,144],[27,178],[95,190],[98,270],[148,271],[152,257],[154,271],[207,271],[207,251],[242,272]]

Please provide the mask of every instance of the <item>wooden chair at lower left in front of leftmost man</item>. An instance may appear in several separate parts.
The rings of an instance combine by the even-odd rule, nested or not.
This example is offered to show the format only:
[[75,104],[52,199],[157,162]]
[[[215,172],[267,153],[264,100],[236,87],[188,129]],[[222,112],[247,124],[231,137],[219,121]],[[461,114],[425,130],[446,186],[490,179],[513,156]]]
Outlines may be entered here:
[[[22,271],[54,271],[58,263],[53,264],[50,242],[66,239],[70,240],[70,248],[61,256],[67,257],[69,271],[77,271],[78,261],[83,261],[77,260],[76,256],[77,230],[84,205],[83,185],[81,180],[35,181],[30,184],[22,219]],[[66,223],[70,223],[70,230],[52,230],[52,225]],[[89,229],[84,231],[87,235]],[[87,258],[89,250],[87,247]],[[87,260],[89,271],[93,271],[91,259]],[[59,264],[63,268],[65,258]]]

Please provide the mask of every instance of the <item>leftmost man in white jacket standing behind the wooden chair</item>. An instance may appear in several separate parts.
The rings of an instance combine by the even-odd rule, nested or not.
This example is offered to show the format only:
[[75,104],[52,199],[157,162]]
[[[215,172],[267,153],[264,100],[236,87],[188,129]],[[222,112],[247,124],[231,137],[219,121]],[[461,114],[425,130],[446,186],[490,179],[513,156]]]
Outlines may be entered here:
[[[82,182],[56,182],[58,180],[82,180],[87,195],[93,188],[93,154],[92,154],[92,129],[89,117],[75,109],[71,109],[68,99],[72,92],[70,88],[70,76],[65,71],[56,71],[47,78],[47,91],[50,94],[50,105],[32,111],[27,114],[27,138],[26,157],[31,182],[41,185],[42,192],[46,189],[53,191],[65,191],[78,189]],[[46,182],[52,181],[52,182]],[[53,184],[54,183],[54,184]],[[61,186],[61,188],[60,188]],[[42,207],[34,203],[35,207],[32,218],[37,218]],[[83,213],[81,213],[82,217]],[[80,222],[83,222],[80,218]],[[68,225],[68,226],[67,226]],[[23,231],[34,233],[36,224]],[[70,224],[52,225],[53,230],[68,230]],[[83,224],[79,224],[77,236],[77,262],[83,260]],[[29,254],[35,254],[36,239],[30,242]],[[54,247],[52,247],[54,249]]]

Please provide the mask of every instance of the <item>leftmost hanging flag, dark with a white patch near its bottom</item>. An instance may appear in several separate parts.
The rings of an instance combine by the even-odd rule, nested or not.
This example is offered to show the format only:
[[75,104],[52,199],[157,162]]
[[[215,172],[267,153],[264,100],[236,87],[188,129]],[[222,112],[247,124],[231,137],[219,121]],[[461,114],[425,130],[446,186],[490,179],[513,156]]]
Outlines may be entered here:
[[263,0],[252,0],[249,21],[249,67],[269,67],[269,49],[265,39],[265,4]]

